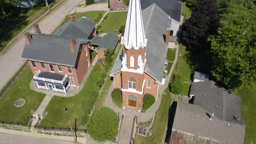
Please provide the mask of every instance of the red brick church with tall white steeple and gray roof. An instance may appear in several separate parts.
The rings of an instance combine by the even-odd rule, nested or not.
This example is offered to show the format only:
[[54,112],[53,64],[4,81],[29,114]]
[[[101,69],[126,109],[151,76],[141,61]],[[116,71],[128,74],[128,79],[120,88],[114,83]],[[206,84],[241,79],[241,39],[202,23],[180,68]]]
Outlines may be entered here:
[[123,106],[142,109],[147,93],[158,99],[159,85],[165,83],[167,44],[163,35],[170,32],[170,26],[171,19],[158,5],[141,11],[137,0],[130,1],[121,38],[123,49],[110,72],[114,88],[122,91]]

